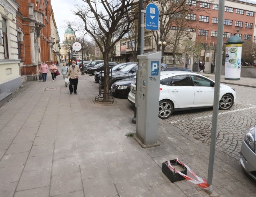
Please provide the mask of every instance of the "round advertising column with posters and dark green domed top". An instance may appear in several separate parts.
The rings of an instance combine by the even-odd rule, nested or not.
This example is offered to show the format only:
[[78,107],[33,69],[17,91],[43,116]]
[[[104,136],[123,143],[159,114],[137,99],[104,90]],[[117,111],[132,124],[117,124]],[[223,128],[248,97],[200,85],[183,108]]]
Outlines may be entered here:
[[225,79],[240,80],[242,39],[236,35],[230,37],[226,42],[225,54]]

